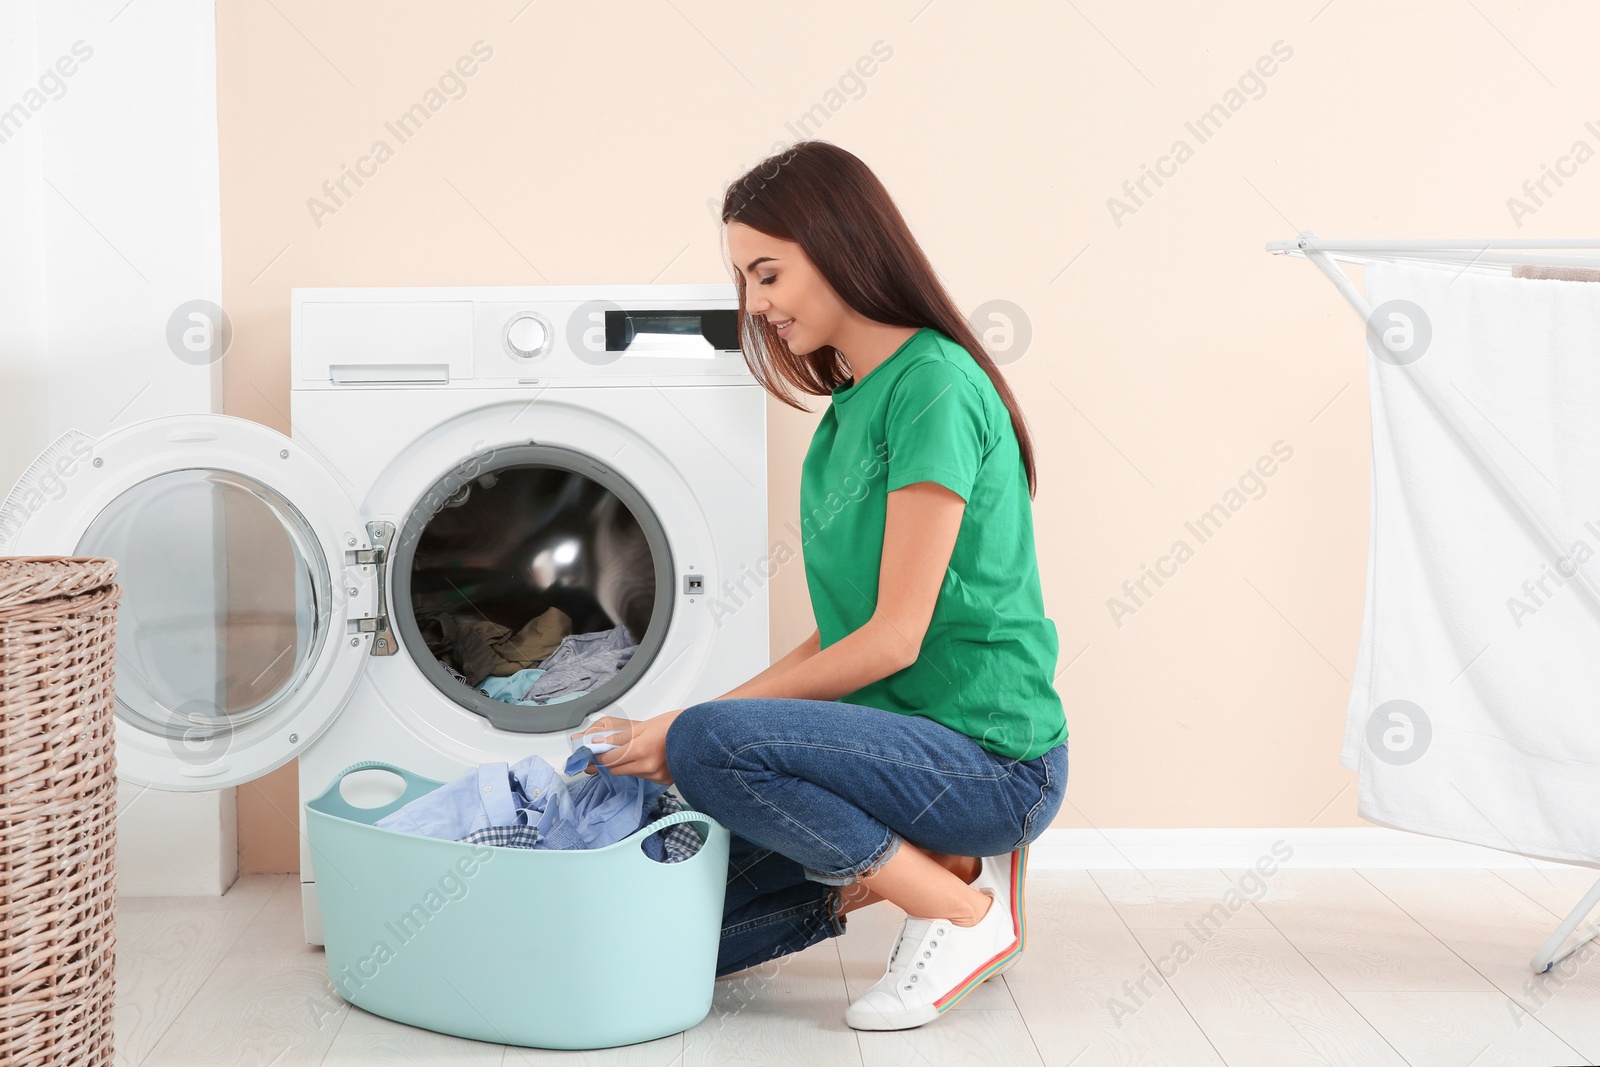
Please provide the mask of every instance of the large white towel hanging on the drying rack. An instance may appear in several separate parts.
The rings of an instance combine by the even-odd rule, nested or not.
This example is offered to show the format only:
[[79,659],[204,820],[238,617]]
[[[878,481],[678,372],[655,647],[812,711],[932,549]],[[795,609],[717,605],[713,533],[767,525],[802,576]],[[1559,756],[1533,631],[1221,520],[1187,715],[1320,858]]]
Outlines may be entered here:
[[1600,590],[1600,285],[1365,272],[1374,315],[1410,301],[1430,339],[1402,365],[1368,338],[1371,537],[1341,752],[1358,811],[1600,865],[1600,597],[1582,587]]

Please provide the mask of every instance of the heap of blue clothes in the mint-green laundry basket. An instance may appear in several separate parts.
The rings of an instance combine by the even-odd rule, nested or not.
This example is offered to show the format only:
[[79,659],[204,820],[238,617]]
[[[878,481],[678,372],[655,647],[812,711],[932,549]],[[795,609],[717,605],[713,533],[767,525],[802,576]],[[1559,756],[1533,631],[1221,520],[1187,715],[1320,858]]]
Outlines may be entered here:
[[483,763],[461,777],[418,797],[373,825],[422,837],[466,840],[482,830],[515,829],[504,837],[523,848],[603,848],[645,825],[666,785],[630,774],[613,774],[587,745],[566,760],[568,781],[549,763],[530,755],[514,765]]

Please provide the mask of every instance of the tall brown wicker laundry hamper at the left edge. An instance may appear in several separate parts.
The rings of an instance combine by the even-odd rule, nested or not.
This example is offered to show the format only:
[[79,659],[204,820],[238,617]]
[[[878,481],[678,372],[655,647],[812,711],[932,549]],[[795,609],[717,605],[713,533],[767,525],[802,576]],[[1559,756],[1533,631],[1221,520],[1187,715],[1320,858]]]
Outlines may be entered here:
[[0,557],[0,1064],[112,1062],[115,560]]

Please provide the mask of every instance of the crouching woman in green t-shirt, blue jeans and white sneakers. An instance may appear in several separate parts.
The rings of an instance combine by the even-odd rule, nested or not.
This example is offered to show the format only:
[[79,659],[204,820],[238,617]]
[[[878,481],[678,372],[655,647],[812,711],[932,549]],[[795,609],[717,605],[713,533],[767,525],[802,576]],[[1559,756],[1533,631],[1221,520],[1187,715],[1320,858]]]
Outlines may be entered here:
[[795,408],[830,397],[800,482],[816,632],[715,701],[582,733],[621,729],[600,761],[731,830],[718,976],[893,901],[888,969],[845,1019],[915,1027],[1016,961],[1027,845],[1066,787],[1032,440],[854,155],[763,160],[722,221],[750,371]]

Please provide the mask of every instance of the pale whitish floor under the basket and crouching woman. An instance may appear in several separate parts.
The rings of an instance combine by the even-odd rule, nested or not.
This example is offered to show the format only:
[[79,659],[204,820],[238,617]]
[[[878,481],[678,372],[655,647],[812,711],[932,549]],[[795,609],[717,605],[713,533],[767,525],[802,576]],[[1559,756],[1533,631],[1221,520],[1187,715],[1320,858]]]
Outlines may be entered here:
[[[1029,949],[915,1030],[845,1025],[899,912],[717,984],[694,1029],[616,1049],[501,1048],[339,1000],[304,944],[299,883],[221,899],[125,899],[117,1051],[126,1067],[259,1064],[1594,1064],[1600,947],[1534,976],[1528,957],[1587,870],[1290,870],[1211,912],[1235,870],[1029,873]],[[1235,901],[1238,897],[1235,896]],[[1226,909],[1224,909],[1226,910]],[[1211,921],[1202,915],[1211,912]]]

